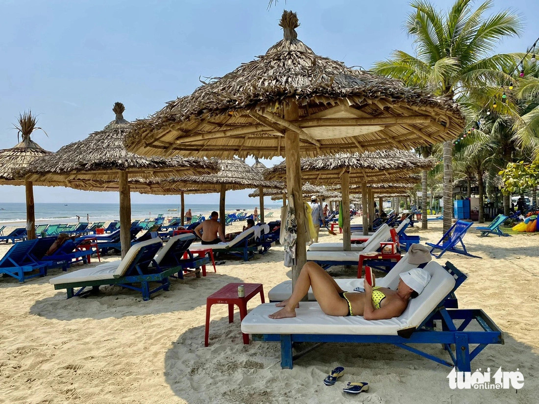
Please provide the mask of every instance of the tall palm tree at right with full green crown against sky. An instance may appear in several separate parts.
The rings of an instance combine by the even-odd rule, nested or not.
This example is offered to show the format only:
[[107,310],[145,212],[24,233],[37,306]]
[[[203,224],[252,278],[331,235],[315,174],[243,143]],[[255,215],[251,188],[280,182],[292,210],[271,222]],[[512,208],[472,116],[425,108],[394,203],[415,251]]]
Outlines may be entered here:
[[[485,16],[493,1],[472,9],[472,0],[456,0],[448,12],[434,8],[425,0],[411,3],[415,10],[405,27],[413,37],[416,54],[395,51],[389,60],[376,62],[374,72],[403,80],[407,85],[429,88],[434,93],[455,99],[486,81],[510,80],[499,66],[515,64],[512,54],[490,55],[507,36],[519,35],[521,19],[512,11]],[[444,148],[444,232],[451,227],[452,142]]]

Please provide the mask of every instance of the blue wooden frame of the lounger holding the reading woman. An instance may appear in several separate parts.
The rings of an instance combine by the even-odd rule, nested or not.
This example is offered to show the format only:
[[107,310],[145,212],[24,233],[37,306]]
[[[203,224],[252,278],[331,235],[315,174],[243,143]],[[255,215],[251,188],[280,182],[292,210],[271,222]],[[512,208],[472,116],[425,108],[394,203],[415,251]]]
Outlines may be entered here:
[[[455,278],[451,293],[466,280],[450,262],[444,268]],[[313,347],[303,352],[293,354],[294,343],[369,343],[392,344],[407,351],[416,353],[448,367],[457,367],[461,372],[471,371],[471,361],[489,344],[504,344],[503,332],[481,309],[447,309],[445,299],[431,312],[417,328],[406,329],[398,335],[339,335],[339,334],[253,334],[254,341],[280,342],[281,368],[292,369],[294,359],[298,359]],[[434,321],[441,322],[441,331],[434,327]],[[455,322],[457,322],[455,324]],[[472,322],[479,324],[482,331],[466,331]],[[430,353],[421,351],[409,344],[442,344],[450,360],[441,359]],[[478,344],[471,350],[471,344]],[[453,348],[454,347],[454,348]],[[453,348],[453,349],[452,349]]]

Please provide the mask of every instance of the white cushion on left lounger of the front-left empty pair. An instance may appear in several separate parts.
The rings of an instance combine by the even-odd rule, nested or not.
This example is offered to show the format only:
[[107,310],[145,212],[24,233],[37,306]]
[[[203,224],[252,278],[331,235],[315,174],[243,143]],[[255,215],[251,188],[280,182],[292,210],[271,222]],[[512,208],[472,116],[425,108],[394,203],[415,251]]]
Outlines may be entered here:
[[140,249],[153,243],[161,243],[161,239],[151,239],[136,243],[129,248],[126,256],[121,261],[105,262],[93,268],[82,268],[68,274],[54,277],[49,280],[49,283],[54,285],[58,283],[77,283],[122,277],[135,259],[135,256],[139,253]]

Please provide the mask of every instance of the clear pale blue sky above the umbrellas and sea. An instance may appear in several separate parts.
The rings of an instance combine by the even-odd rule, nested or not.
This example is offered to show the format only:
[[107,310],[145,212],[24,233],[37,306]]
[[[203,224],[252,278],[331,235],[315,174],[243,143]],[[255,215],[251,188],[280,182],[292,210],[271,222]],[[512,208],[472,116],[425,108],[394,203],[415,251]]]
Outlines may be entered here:
[[[453,0],[432,3],[448,8]],[[495,0],[492,12],[508,5],[521,13],[522,37],[509,38],[499,52],[525,51],[539,37],[533,16],[539,2]],[[19,112],[38,114],[34,141],[44,149],[85,138],[113,119],[115,101],[128,120],[143,118],[166,101],[191,93],[199,76],[221,76],[260,55],[282,38],[284,8],[298,13],[298,37],[320,55],[348,66],[369,68],[392,50],[413,52],[403,22],[404,0],[0,0],[0,148],[16,144]],[[267,166],[272,162],[263,160]],[[253,164],[253,159],[247,159]],[[227,193],[251,203],[250,191]],[[36,201],[116,203],[114,192],[36,187]],[[24,187],[1,186],[0,202],[24,201]],[[133,203],[176,203],[177,197],[132,194]],[[186,196],[186,203],[218,203],[217,194]]]

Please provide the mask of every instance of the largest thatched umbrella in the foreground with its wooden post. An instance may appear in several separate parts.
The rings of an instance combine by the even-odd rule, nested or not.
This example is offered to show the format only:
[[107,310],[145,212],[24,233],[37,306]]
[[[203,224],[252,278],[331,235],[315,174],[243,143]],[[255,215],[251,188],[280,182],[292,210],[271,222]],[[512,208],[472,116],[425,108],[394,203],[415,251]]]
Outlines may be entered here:
[[[285,156],[288,195],[301,206],[299,157],[335,151],[410,149],[460,134],[451,100],[315,54],[285,11],[284,39],[266,54],[171,101],[127,138],[144,155]],[[295,280],[306,258],[305,218],[296,208]]]

